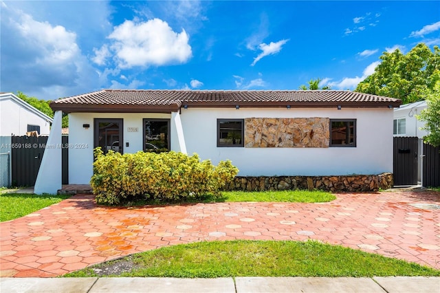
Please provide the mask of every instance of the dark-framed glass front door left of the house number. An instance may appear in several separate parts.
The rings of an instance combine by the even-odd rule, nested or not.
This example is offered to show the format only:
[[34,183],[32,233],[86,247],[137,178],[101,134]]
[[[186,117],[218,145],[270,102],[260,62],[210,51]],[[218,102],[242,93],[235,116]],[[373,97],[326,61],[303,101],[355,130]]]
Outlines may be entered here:
[[94,144],[100,146],[104,153],[108,151],[123,151],[123,119],[95,119]]

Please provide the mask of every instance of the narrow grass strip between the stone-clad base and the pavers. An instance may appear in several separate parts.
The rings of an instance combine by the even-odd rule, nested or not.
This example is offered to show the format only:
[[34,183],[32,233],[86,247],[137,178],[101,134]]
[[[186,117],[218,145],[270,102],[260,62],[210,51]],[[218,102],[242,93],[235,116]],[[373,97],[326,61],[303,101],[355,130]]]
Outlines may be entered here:
[[205,195],[200,199],[181,199],[177,201],[165,199],[139,199],[126,202],[124,206],[144,206],[147,204],[185,204],[212,202],[331,202],[336,196],[326,191],[222,191],[221,195]]

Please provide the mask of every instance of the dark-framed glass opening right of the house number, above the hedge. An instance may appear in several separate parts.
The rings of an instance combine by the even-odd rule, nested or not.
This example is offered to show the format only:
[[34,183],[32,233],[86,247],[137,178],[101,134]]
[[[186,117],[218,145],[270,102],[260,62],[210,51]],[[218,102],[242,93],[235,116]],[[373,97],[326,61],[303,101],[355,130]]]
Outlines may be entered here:
[[169,119],[144,119],[144,151],[148,149],[170,150]]

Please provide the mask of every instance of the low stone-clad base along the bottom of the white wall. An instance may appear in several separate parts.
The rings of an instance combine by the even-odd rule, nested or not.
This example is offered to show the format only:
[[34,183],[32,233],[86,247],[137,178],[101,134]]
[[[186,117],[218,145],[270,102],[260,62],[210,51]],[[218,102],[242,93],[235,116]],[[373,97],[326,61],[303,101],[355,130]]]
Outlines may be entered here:
[[319,189],[331,192],[379,191],[393,187],[393,174],[342,176],[235,177],[228,191],[285,191]]

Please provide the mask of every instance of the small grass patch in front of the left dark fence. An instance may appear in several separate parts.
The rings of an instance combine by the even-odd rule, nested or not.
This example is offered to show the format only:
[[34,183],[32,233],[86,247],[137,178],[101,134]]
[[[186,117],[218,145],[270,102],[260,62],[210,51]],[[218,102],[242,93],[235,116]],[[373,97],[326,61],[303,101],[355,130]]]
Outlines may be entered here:
[[61,202],[70,195],[34,195],[28,193],[6,193],[0,191],[0,221],[9,221],[36,210],[41,210],[51,204]]

